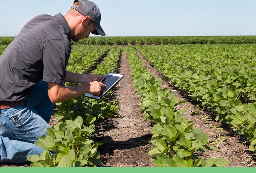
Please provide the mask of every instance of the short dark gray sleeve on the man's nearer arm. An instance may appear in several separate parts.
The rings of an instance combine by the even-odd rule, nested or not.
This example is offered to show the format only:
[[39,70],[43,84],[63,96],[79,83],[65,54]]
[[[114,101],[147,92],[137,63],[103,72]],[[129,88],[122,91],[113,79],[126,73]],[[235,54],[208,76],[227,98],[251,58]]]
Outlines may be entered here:
[[70,51],[63,40],[50,40],[44,44],[43,52],[43,81],[65,85],[66,67]]

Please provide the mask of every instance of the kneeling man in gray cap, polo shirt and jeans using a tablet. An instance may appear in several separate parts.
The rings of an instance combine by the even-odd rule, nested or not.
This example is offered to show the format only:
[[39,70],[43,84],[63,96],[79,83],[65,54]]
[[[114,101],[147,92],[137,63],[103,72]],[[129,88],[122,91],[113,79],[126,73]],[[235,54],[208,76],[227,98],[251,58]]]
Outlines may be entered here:
[[[66,15],[39,15],[29,21],[0,57],[0,164],[40,155],[34,142],[47,135],[55,103],[84,93],[99,95],[104,75],[66,70],[75,42],[90,33],[105,36],[101,13],[91,1],[75,0]],[[75,87],[65,82],[81,83]]]

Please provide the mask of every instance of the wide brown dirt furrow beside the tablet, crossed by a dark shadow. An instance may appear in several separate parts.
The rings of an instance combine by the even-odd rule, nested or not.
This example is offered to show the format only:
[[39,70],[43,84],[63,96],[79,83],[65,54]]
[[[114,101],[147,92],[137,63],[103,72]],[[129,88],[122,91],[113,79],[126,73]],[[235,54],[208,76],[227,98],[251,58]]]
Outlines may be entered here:
[[124,52],[118,73],[125,74],[112,94],[119,100],[119,116],[101,122],[97,127],[99,135],[95,136],[95,141],[104,143],[98,148],[101,160],[104,166],[111,167],[151,167],[150,126],[141,119],[140,100]]

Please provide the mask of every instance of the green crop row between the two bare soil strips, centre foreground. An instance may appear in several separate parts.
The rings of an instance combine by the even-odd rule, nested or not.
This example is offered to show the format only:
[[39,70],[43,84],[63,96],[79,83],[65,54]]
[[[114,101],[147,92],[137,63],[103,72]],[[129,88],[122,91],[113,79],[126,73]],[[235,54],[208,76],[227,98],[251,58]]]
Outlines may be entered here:
[[183,110],[177,111],[176,106],[182,102],[174,97],[174,92],[167,88],[161,89],[162,79],[155,78],[142,65],[134,47],[125,48],[127,59],[132,70],[134,87],[142,99],[141,112],[150,119],[154,126],[151,142],[154,148],[149,151],[153,164],[157,167],[221,167],[229,164],[223,158],[198,158],[196,152],[206,149],[217,150],[207,145],[209,134],[193,127],[194,123],[187,120]]

